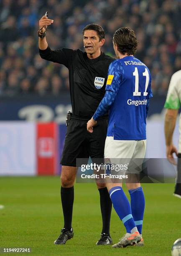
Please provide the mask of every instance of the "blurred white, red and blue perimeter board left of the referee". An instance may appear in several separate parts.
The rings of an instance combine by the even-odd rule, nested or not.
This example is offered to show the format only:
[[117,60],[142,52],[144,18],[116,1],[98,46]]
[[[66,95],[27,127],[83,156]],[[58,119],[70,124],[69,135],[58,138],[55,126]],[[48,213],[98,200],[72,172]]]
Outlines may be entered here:
[[[65,125],[25,121],[0,122],[0,175],[59,174]],[[59,132],[61,130],[61,132]]]

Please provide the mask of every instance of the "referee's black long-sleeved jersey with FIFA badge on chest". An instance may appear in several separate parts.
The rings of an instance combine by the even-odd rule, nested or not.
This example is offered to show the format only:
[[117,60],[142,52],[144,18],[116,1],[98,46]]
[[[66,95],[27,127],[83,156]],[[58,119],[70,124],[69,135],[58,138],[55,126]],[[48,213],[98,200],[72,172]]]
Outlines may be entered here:
[[79,49],[52,51],[49,46],[39,52],[41,58],[69,69],[72,113],[79,118],[90,119],[105,95],[107,71],[115,59],[104,53],[96,59],[89,59],[87,53]]

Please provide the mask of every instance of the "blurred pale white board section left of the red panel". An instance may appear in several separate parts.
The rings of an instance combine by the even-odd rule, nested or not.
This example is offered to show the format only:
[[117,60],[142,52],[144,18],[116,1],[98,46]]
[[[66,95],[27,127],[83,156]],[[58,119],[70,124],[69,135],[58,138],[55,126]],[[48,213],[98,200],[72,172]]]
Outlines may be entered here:
[[36,124],[0,122],[0,175],[36,175]]

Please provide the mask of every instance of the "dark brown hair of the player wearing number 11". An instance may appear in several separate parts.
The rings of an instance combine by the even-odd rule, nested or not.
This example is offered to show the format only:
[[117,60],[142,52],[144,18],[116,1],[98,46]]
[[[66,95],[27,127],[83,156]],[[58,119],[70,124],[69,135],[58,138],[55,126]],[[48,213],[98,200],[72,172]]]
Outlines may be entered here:
[[138,46],[135,32],[127,27],[122,27],[115,31],[113,43],[117,45],[117,50],[121,54],[133,55]]

